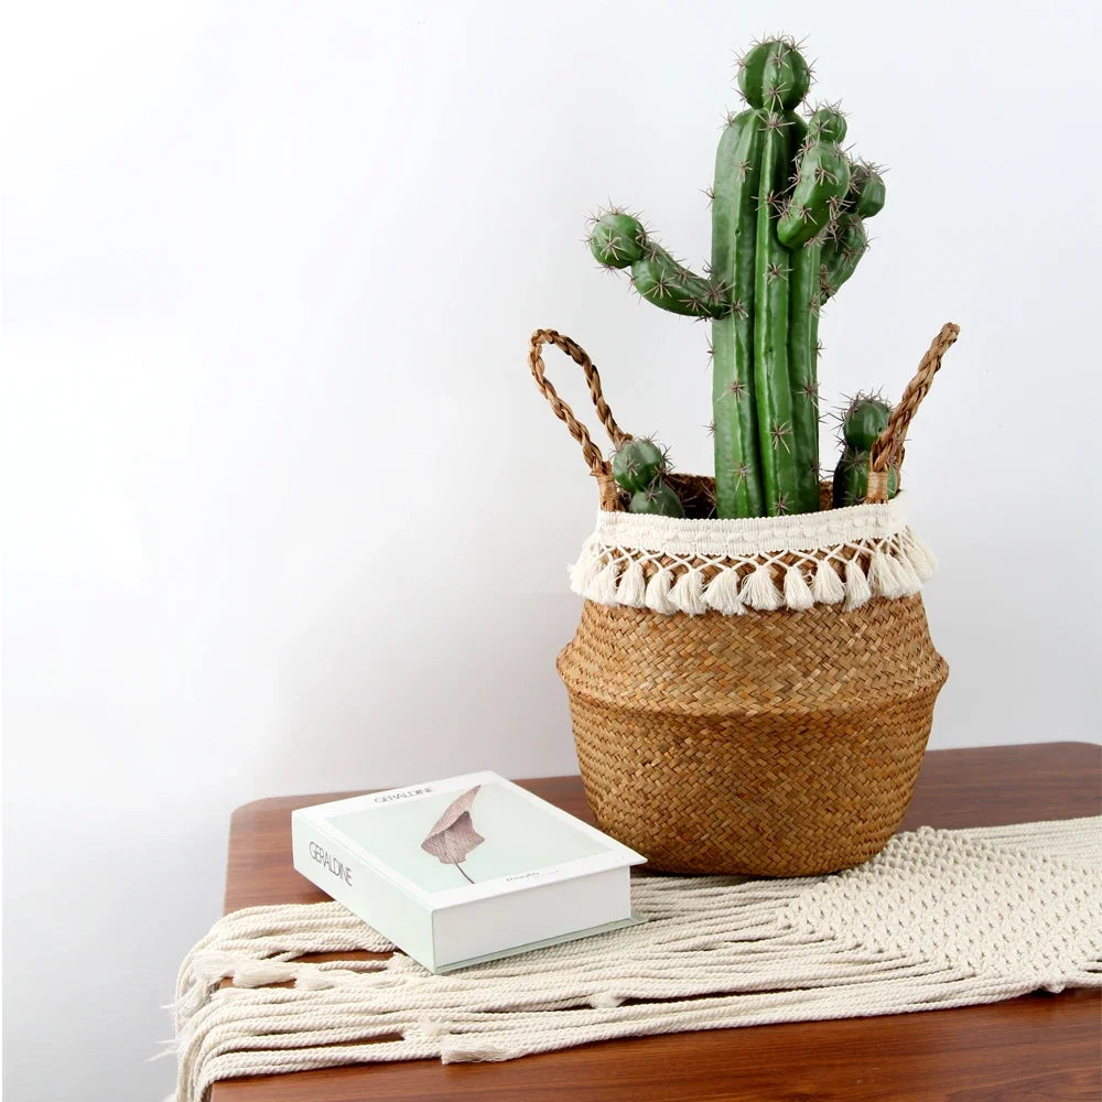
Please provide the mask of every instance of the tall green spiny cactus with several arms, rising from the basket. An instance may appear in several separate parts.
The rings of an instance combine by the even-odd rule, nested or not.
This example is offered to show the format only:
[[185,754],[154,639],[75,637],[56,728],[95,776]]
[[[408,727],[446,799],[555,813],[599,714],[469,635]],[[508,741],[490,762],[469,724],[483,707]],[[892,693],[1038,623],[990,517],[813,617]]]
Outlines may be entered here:
[[861,220],[883,205],[883,183],[851,171],[835,109],[810,125],[796,114],[810,72],[790,40],[755,45],[738,86],[747,107],[728,118],[716,150],[709,274],[676,261],[622,210],[595,222],[590,248],[607,268],[630,268],[648,302],[712,320],[719,516],[810,512],[819,508],[819,309],[864,252]]

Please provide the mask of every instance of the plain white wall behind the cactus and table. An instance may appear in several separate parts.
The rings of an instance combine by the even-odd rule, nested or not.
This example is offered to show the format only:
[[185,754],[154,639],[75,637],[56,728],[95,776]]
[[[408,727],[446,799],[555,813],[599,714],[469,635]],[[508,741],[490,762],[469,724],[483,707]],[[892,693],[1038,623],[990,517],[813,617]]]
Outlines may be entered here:
[[[1099,741],[1089,2],[201,2],[11,12],[7,1096],[155,1098],[230,810],[575,768],[554,656],[595,489],[537,396],[574,335],[707,471],[706,329],[581,244],[699,263],[735,47],[808,36],[890,165],[824,314],[828,402],[897,395],[952,674],[931,745]],[[571,399],[583,390],[549,356]]]

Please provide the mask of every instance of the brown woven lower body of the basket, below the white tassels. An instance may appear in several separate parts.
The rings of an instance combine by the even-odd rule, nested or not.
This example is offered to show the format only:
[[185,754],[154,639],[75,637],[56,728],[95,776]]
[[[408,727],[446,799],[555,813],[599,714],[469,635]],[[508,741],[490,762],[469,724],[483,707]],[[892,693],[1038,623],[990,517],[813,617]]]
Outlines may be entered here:
[[601,829],[658,871],[755,876],[887,844],[948,673],[919,597],[738,617],[587,602],[559,666]]

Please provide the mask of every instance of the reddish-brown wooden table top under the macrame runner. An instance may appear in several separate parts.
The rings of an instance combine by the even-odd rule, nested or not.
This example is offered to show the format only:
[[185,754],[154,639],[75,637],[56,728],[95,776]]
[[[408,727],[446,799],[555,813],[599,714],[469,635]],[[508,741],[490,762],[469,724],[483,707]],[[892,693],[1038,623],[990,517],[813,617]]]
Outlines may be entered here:
[[[521,781],[590,819],[577,777]],[[354,793],[345,793],[354,795]],[[226,910],[326,897],[291,867],[293,808],[234,813]],[[1102,813],[1102,746],[1048,743],[927,755],[905,829],[982,827]],[[992,1006],[602,1041],[506,1063],[433,1060],[219,1083],[214,1102],[715,1102],[720,1099],[1004,1102],[1102,1098],[1098,991],[1039,993]]]

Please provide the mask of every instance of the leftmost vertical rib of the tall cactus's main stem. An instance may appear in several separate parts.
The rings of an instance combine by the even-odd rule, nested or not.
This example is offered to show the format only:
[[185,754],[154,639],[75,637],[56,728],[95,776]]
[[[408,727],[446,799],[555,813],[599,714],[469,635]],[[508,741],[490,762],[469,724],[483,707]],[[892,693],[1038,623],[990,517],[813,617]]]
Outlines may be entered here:
[[712,421],[720,517],[765,511],[754,399],[754,253],[761,170],[761,123],[755,110],[733,118],[715,153],[712,278],[727,289],[731,311],[712,322]]

